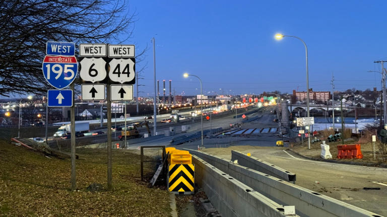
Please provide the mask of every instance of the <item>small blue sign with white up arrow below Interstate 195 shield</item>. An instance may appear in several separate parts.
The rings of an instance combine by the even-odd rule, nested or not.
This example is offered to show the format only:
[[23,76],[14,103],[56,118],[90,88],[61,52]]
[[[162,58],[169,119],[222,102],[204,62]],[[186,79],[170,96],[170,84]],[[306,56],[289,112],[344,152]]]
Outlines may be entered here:
[[73,90],[48,90],[47,101],[48,107],[71,107],[73,106]]

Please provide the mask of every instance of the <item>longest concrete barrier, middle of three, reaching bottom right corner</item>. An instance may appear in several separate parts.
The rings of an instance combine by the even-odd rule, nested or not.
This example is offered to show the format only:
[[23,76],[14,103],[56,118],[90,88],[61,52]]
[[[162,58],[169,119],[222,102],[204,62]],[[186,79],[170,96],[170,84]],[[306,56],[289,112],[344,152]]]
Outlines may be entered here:
[[[196,150],[188,150],[191,154],[201,157],[224,173],[259,191],[270,199],[287,205],[295,205],[300,216],[313,217],[382,217],[382,215],[359,208],[346,202],[311,191],[282,179],[253,169],[234,164],[225,159]],[[219,167],[218,167],[219,165]],[[216,183],[214,183],[216,185]],[[214,186],[209,186],[214,187]],[[207,192],[206,192],[207,193]]]

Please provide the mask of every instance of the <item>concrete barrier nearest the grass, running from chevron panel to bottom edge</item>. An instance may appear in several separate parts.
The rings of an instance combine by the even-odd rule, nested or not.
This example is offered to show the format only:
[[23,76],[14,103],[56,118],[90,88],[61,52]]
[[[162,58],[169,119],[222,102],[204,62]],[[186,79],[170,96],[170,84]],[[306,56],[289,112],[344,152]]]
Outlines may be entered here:
[[[195,181],[224,217],[287,216],[284,207],[192,155]],[[299,215],[292,215],[299,216]]]

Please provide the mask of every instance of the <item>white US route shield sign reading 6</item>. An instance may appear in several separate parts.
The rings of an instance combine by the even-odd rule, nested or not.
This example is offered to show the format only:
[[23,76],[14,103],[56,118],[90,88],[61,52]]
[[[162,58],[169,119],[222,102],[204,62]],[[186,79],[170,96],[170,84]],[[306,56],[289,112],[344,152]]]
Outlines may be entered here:
[[102,58],[84,58],[80,61],[79,75],[85,81],[102,81],[106,78],[106,62]]

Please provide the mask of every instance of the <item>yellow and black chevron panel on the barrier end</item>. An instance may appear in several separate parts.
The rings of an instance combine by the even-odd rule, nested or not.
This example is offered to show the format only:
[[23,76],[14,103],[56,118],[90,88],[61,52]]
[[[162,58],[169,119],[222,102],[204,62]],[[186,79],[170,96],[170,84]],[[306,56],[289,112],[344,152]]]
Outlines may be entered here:
[[195,191],[195,167],[193,164],[170,164],[168,190],[175,194],[193,194]]

